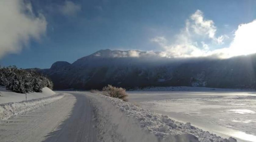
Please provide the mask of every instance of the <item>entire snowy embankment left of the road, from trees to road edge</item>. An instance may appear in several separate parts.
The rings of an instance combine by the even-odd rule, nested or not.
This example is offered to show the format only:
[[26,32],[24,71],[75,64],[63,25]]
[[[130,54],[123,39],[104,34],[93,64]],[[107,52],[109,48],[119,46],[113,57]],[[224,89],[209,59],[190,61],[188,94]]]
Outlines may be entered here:
[[0,90],[0,120],[7,120],[12,116],[42,107],[64,96],[64,94],[55,94],[45,87],[42,93],[27,93],[28,101],[26,101],[25,94],[7,91],[3,87]]

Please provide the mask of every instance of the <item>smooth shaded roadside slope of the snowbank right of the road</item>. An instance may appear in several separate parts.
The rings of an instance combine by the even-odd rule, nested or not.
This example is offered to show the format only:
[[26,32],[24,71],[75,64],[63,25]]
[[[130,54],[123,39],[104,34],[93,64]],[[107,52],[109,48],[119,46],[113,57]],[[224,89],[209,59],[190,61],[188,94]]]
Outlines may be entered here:
[[[74,94],[74,93],[72,93]],[[86,92],[93,106],[99,142],[156,142],[156,136],[144,131],[136,119],[125,116],[102,95]]]

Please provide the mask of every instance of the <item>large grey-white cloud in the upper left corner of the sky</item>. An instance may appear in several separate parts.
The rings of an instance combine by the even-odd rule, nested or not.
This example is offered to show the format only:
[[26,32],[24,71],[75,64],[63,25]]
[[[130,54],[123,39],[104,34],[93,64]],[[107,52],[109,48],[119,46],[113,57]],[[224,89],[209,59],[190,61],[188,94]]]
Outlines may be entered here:
[[19,52],[30,39],[39,40],[46,32],[44,16],[35,16],[31,4],[22,0],[1,0],[0,21],[0,58]]

